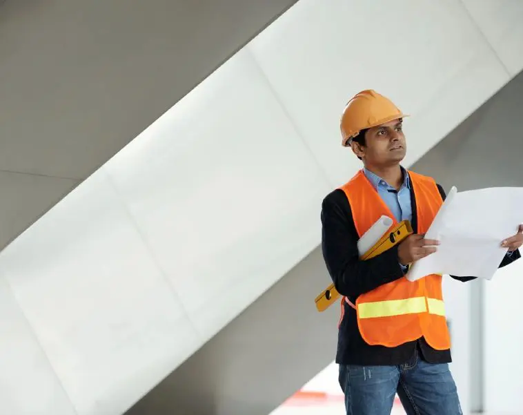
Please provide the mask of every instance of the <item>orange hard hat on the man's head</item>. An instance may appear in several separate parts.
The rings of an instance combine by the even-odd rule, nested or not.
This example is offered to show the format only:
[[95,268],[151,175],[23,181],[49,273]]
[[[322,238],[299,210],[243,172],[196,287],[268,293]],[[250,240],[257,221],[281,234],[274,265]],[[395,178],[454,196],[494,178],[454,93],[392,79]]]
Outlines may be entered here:
[[393,119],[408,117],[375,90],[357,93],[343,110],[339,128],[342,130],[342,146],[351,145],[351,139],[366,128],[373,128]]

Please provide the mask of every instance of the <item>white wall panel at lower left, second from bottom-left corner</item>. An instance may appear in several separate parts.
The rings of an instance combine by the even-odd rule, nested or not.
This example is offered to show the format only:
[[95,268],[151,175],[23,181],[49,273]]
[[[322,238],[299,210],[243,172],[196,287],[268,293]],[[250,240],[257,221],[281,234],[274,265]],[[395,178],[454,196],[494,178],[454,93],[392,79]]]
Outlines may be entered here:
[[78,414],[124,412],[201,344],[100,173],[1,264]]

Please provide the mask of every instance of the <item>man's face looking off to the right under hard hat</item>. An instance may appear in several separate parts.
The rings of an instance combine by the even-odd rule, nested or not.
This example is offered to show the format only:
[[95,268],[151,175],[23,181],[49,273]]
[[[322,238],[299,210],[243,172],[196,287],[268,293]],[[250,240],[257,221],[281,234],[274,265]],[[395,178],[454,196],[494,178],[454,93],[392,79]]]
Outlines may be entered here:
[[365,146],[353,142],[354,153],[373,166],[390,166],[401,162],[406,154],[405,135],[401,119],[370,128],[365,135]]

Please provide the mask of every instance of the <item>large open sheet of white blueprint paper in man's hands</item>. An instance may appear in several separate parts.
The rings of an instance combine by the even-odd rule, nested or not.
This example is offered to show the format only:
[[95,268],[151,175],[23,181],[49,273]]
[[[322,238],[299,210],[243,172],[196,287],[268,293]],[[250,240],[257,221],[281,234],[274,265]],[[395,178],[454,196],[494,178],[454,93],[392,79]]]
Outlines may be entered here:
[[425,238],[440,241],[437,251],[416,261],[407,279],[431,273],[490,280],[504,255],[504,239],[523,224],[523,188],[496,187],[457,193],[455,187]]

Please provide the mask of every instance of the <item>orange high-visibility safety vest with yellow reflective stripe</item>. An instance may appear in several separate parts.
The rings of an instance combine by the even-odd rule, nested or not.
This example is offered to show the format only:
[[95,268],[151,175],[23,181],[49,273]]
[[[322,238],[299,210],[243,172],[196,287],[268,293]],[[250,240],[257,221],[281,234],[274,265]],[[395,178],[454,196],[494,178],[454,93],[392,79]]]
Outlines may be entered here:
[[[417,231],[425,233],[431,225],[443,200],[435,181],[408,172],[416,200]],[[351,205],[353,220],[359,238],[382,216],[397,224],[376,189],[363,171],[341,188]],[[442,294],[442,276],[431,274],[415,282],[405,277],[364,293],[352,305],[356,309],[357,324],[362,338],[369,345],[396,347],[422,336],[431,347],[445,350],[451,347],[446,325]]]

